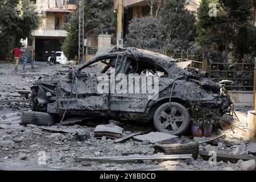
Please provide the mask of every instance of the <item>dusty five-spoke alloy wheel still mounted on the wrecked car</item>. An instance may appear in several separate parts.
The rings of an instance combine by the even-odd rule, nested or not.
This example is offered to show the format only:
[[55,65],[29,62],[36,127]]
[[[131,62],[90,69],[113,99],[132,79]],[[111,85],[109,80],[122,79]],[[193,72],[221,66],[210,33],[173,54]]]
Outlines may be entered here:
[[182,135],[190,125],[188,110],[176,102],[168,102],[158,107],[154,114],[156,130],[172,135]]

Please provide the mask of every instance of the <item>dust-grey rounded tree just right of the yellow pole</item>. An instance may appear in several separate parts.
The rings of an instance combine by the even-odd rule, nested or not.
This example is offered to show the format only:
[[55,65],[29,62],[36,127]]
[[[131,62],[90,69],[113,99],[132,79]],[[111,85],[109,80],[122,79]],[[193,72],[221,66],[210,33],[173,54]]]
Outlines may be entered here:
[[125,46],[160,51],[161,24],[152,16],[132,19],[126,35]]

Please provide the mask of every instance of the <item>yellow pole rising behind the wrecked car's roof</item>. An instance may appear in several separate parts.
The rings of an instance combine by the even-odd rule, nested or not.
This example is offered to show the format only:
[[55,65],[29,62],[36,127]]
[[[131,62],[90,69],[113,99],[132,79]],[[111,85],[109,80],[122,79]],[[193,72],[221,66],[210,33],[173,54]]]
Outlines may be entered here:
[[123,0],[119,0],[117,14],[117,48],[123,48]]

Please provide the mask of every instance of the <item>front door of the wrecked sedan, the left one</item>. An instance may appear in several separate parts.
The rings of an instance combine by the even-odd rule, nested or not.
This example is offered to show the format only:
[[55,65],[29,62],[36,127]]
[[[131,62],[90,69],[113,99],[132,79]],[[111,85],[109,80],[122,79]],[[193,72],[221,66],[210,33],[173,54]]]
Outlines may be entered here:
[[[99,85],[102,85],[104,81],[105,85],[110,84],[109,75],[105,75],[105,79],[102,80],[102,71],[106,72],[107,62],[102,64],[102,61],[108,60],[108,64],[112,59],[105,57],[95,61],[92,64],[86,65],[86,68],[79,71],[74,80],[65,82],[65,85],[61,89],[66,89],[66,92],[71,92],[72,98],[68,105],[67,97],[65,98],[65,105],[63,100],[59,100],[59,109],[65,109],[68,105],[68,110],[109,110],[109,90],[107,92],[101,92]],[[114,65],[113,65],[114,67]],[[108,77],[108,79],[106,78]],[[68,86],[67,86],[68,85]],[[72,86],[73,85],[73,86]]]

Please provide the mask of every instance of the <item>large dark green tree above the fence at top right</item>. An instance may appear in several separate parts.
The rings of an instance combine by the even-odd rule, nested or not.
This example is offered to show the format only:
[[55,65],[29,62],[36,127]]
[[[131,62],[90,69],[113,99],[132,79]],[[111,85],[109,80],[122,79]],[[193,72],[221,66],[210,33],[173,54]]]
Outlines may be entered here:
[[[209,16],[210,3],[216,5],[216,16]],[[251,0],[202,0],[198,9],[197,43],[207,49],[233,51],[238,60],[255,47],[255,27]],[[254,38],[255,39],[255,38]]]

